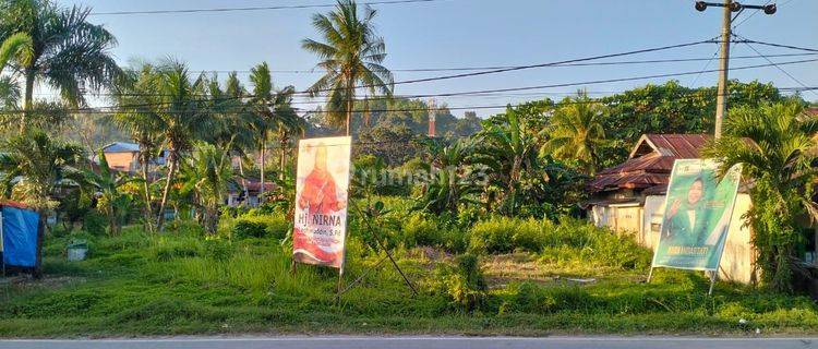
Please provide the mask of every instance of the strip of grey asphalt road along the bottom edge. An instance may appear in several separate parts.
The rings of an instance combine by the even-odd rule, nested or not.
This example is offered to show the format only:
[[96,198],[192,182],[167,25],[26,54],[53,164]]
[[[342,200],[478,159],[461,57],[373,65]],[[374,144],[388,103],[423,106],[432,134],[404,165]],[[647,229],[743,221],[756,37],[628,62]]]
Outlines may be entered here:
[[0,349],[756,349],[818,348],[816,338],[689,337],[172,337],[88,340],[0,340]]

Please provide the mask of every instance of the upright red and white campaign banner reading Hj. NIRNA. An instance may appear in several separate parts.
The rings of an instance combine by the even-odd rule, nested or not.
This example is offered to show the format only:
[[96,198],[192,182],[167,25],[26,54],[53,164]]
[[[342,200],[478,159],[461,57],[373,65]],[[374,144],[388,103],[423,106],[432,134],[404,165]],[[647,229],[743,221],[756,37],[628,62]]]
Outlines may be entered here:
[[299,142],[292,229],[297,262],[344,265],[350,149],[348,136]]

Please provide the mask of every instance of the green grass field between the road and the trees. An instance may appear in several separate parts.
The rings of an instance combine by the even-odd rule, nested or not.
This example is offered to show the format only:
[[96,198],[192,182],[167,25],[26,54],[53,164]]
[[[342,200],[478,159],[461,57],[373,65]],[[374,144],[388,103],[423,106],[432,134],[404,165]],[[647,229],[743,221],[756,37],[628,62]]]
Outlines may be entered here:
[[[130,227],[112,238],[80,234],[92,253],[69,263],[64,246],[77,236],[64,233],[47,241],[45,279],[0,279],[0,336],[818,333],[818,308],[806,297],[725,282],[708,297],[703,275],[679,270],[658,270],[648,285],[649,251],[573,227],[537,252],[482,254],[484,288],[458,274],[454,254],[398,246],[418,296],[384,263],[339,301],[336,270],[291,274],[288,248],[275,238],[207,240],[190,229],[148,236]],[[584,236],[576,229],[619,246],[565,240]],[[346,282],[383,255],[357,233]]]

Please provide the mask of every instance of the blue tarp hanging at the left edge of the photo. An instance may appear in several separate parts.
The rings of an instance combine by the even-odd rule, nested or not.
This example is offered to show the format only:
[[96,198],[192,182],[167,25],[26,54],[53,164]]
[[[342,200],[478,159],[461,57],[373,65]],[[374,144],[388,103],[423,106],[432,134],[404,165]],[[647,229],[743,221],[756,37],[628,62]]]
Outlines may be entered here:
[[37,227],[39,214],[3,206],[3,263],[33,267],[37,263]]

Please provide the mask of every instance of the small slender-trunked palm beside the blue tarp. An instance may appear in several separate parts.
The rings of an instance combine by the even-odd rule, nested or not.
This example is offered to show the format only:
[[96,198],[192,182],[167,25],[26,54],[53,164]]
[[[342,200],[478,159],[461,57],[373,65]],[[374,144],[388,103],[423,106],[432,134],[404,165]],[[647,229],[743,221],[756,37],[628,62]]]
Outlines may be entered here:
[[[45,227],[48,210],[57,206],[52,200],[55,190],[79,177],[75,166],[82,157],[82,146],[56,141],[37,129],[3,141],[0,144],[0,183],[4,196],[35,207],[40,217],[39,226]],[[41,274],[44,234],[40,228],[35,276]]]

